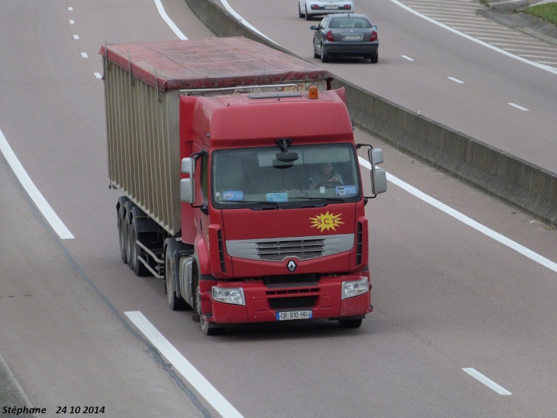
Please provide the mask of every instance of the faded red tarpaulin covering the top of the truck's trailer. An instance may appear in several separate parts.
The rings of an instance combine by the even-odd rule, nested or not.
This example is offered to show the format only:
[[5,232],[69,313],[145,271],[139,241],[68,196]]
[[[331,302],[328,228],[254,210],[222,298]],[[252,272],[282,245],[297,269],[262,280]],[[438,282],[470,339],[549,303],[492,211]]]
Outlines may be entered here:
[[125,70],[131,65],[134,77],[160,91],[331,78],[317,65],[243,36],[109,44],[99,54]]

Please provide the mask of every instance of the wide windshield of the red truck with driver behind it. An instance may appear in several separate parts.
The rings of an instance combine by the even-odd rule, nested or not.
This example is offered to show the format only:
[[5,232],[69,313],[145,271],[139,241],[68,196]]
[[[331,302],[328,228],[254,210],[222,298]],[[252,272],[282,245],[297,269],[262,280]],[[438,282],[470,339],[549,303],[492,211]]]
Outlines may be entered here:
[[289,146],[295,162],[274,147],[216,150],[211,194],[215,208],[280,209],[359,201],[360,176],[351,144]]

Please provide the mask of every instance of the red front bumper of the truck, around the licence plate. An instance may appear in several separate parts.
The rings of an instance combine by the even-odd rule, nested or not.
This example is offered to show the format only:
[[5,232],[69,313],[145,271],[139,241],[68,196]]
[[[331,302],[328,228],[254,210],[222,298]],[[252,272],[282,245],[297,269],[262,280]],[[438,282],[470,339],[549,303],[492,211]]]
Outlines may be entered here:
[[342,299],[341,296],[343,281],[357,280],[359,277],[362,277],[361,274],[327,277],[315,284],[288,286],[236,282],[235,286],[243,288],[245,305],[217,302],[207,292],[204,296],[208,299],[206,302],[210,302],[212,314],[204,315],[204,318],[219,324],[274,322],[278,312],[307,310],[311,311],[312,319],[363,317],[373,310],[370,289],[348,299]]

